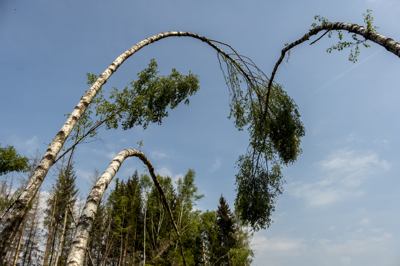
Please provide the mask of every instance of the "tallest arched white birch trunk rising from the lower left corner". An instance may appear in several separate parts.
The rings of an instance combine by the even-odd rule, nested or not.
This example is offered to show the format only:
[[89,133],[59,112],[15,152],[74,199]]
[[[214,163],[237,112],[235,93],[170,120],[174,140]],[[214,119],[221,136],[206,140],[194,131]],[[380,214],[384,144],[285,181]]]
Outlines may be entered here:
[[[6,254],[8,252],[8,249],[10,248],[12,239],[14,239],[16,233],[18,232],[18,228],[24,218],[24,215],[28,211],[29,204],[34,199],[40,185],[42,185],[42,182],[46,177],[50,167],[52,167],[52,165],[56,162],[57,155],[62,149],[64,142],[72,132],[72,129],[74,128],[100,87],[102,87],[102,85],[107,82],[107,79],[118,69],[118,67],[120,67],[121,64],[130,56],[132,56],[135,52],[148,44],[172,36],[187,36],[201,40],[202,42],[205,42],[206,44],[214,48],[219,54],[223,55],[230,62],[238,65],[238,63],[236,63],[234,59],[232,59],[228,54],[218,48],[206,37],[191,32],[163,32],[149,37],[142,42],[139,42],[138,44],[132,46],[132,48],[118,56],[118,58],[98,77],[92,87],[90,87],[90,89],[81,98],[78,105],[76,105],[74,110],[71,112],[67,121],[62,126],[61,130],[57,133],[56,137],[54,137],[54,140],[51,143],[50,147],[47,149],[43,158],[40,160],[40,163],[36,168],[34,174],[32,175],[28,185],[25,187],[24,191],[22,191],[20,197],[15,201],[14,208],[6,219],[4,227],[0,232],[0,262],[3,262],[6,258]],[[243,70],[242,72],[244,73]],[[244,73],[244,75],[247,76],[246,73]]]

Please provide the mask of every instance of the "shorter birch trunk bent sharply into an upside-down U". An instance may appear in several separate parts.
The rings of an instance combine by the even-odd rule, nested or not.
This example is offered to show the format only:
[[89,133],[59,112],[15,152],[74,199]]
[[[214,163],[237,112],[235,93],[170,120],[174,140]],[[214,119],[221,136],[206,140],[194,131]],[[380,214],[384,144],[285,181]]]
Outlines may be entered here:
[[94,222],[94,218],[96,217],[97,208],[100,205],[100,201],[104,194],[104,191],[107,189],[111,180],[114,178],[115,174],[118,172],[118,169],[121,167],[122,162],[128,157],[139,157],[140,160],[147,166],[149,173],[153,179],[154,185],[158,189],[158,193],[160,194],[163,205],[165,206],[168,216],[171,220],[172,226],[174,226],[175,232],[178,236],[179,248],[182,254],[184,265],[186,266],[186,260],[184,257],[184,253],[182,250],[182,243],[180,241],[180,234],[178,227],[175,224],[174,217],[172,216],[172,212],[164,191],[158,182],[157,176],[154,173],[154,167],[152,163],[147,159],[147,157],[141,151],[128,149],[123,150],[112,160],[107,170],[99,177],[94,185],[92,191],[90,192],[88,199],[86,200],[86,204],[82,210],[82,214],[78,221],[78,226],[76,227],[76,232],[74,238],[72,239],[72,244],[70,247],[70,252],[68,254],[68,258],[66,260],[66,266],[82,266],[84,263],[84,256],[86,251],[86,246],[89,241],[90,232],[92,231],[92,226]]

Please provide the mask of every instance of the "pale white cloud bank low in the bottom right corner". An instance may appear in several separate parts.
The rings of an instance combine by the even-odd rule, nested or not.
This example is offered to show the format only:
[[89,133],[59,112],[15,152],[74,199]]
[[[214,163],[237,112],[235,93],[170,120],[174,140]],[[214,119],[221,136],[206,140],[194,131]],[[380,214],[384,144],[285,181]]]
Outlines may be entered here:
[[[334,226],[331,228],[335,229]],[[331,229],[329,228],[329,229]],[[328,230],[329,230],[328,229]],[[333,230],[332,229],[332,230]],[[336,232],[336,233],[339,233]],[[267,238],[266,232],[257,232],[252,239],[256,250],[255,265],[376,265],[360,263],[370,254],[392,254],[392,234],[385,230],[358,230],[342,232],[335,239],[290,238],[286,236],[272,236]],[[392,248],[392,249],[391,249]],[[384,263],[382,264],[384,265]],[[387,265],[387,264],[385,264]],[[395,264],[393,264],[395,265]]]

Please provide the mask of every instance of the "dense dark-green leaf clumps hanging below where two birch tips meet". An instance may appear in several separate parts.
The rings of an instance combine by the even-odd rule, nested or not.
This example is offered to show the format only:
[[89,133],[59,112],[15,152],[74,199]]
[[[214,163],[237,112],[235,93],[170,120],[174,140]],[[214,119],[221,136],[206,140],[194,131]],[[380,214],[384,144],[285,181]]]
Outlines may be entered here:
[[[266,93],[266,88],[260,89]],[[250,147],[239,157],[236,175],[236,208],[255,230],[270,225],[276,197],[282,193],[282,165],[290,165],[302,152],[300,138],[304,127],[298,107],[281,85],[270,92],[268,111],[264,121],[262,108],[253,103],[248,108]]]

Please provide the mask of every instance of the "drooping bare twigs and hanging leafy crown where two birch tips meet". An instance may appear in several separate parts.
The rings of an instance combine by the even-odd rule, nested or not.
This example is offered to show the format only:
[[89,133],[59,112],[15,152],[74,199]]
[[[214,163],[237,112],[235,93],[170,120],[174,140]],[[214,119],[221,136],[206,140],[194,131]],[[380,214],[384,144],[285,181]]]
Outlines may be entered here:
[[229,57],[219,54],[231,96],[228,118],[233,117],[236,128],[247,128],[250,135],[246,153],[236,162],[235,206],[242,220],[259,230],[270,226],[276,197],[283,190],[282,165],[294,163],[302,153],[305,129],[296,103],[283,86],[272,84],[252,60],[228,47]]

